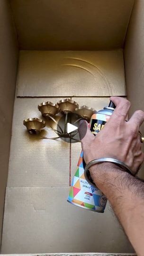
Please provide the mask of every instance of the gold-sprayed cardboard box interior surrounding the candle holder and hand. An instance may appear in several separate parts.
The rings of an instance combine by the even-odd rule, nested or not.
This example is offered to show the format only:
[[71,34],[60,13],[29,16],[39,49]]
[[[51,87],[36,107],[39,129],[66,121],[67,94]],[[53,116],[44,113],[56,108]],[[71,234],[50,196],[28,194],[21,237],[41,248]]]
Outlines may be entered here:
[[108,207],[66,202],[80,143],[31,137],[22,121],[63,97],[99,110],[126,96],[130,115],[144,110],[143,11],[144,0],[0,1],[2,253],[133,252]]

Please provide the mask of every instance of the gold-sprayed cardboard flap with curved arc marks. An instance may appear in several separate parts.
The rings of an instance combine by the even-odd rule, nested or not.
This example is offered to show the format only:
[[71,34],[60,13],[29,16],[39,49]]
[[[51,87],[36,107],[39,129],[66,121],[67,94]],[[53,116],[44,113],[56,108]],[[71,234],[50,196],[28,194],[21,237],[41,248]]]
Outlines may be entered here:
[[21,51],[17,96],[126,95],[123,52]]

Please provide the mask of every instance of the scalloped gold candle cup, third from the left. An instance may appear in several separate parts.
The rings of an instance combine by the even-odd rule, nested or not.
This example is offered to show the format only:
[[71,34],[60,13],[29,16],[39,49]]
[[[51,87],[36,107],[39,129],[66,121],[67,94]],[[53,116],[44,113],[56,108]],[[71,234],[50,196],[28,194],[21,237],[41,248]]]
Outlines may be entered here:
[[58,101],[57,105],[60,107],[61,112],[74,112],[75,109],[79,107],[79,104],[76,101],[70,99]]

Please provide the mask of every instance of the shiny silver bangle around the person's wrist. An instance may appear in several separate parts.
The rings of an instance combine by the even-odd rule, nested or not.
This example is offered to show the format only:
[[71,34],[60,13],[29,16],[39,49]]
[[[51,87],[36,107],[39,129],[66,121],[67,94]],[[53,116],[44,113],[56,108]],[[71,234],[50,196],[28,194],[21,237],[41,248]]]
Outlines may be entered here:
[[121,167],[127,173],[132,174],[132,171],[128,167],[128,165],[126,165],[125,163],[123,163],[122,161],[119,161],[117,159],[109,158],[109,157],[94,159],[94,160],[90,161],[84,168],[85,178],[86,178],[87,182],[90,183],[92,186],[95,185],[95,183],[92,181],[91,176],[90,176],[90,171],[89,171],[90,166],[95,165],[95,164],[99,164],[99,163],[105,163],[105,162],[113,163],[115,165],[118,165],[119,167]]

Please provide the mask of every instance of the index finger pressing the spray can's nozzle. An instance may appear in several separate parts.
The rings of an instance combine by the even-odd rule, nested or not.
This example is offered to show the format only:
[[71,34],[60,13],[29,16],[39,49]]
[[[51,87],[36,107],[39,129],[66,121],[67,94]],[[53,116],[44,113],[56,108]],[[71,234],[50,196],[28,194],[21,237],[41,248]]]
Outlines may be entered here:
[[126,121],[126,117],[128,114],[128,110],[131,106],[130,101],[121,97],[110,97],[110,101],[112,101],[116,105],[116,109],[114,110],[110,120],[121,119]]

